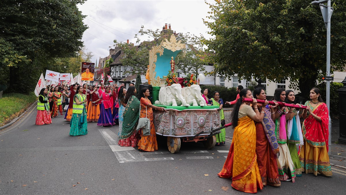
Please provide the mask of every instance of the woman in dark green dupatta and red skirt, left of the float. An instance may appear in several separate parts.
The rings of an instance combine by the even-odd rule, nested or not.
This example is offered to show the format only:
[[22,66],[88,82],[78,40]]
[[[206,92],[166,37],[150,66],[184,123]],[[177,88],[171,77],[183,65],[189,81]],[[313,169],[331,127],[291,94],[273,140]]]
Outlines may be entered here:
[[136,147],[140,139],[139,133],[136,128],[139,119],[140,101],[135,96],[136,88],[131,86],[128,88],[125,102],[127,102],[122,122],[122,130],[118,145],[125,147]]

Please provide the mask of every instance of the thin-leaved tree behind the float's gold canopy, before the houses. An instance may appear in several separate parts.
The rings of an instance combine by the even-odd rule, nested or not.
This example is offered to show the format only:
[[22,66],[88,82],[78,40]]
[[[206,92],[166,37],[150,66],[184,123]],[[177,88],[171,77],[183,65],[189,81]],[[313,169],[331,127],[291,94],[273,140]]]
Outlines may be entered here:
[[[120,47],[121,52],[124,53],[124,56],[126,56],[121,59],[122,65],[124,65],[124,67],[132,67],[133,71],[131,73],[133,74],[144,74],[149,64],[149,50],[151,50],[153,46],[160,45],[165,38],[167,40],[170,40],[172,34],[173,30],[171,29],[151,30],[144,29],[144,26],[142,26],[138,34],[135,35],[135,38],[137,39],[136,43],[140,43],[138,46],[127,44],[124,42],[117,42],[116,40],[114,40],[114,46]],[[147,35],[148,39],[141,42],[139,35]],[[202,52],[203,45],[200,41],[201,38],[195,35],[191,35],[190,33],[178,33],[176,34],[176,39],[178,41],[181,40],[182,43],[185,43],[187,45],[187,47],[185,48],[185,57],[181,59],[175,59],[177,69],[182,70],[186,74],[196,74],[198,70],[204,71],[205,69],[203,65],[206,64],[206,62],[202,57],[204,53]]]

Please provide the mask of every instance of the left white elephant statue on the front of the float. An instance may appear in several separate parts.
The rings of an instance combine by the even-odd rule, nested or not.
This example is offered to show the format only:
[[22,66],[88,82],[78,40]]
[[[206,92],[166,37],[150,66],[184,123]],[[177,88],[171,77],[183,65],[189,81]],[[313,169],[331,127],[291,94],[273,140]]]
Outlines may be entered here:
[[190,106],[181,94],[180,84],[161,87],[158,92],[158,100],[155,101],[155,104],[164,106]]

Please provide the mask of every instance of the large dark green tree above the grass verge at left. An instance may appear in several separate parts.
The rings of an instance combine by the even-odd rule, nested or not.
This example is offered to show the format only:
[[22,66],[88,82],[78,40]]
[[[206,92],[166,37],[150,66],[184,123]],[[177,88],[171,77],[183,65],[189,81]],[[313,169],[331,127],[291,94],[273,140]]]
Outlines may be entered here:
[[[41,72],[63,70],[59,61],[81,50],[83,16],[77,4],[84,0],[2,0],[0,39],[10,46],[1,51],[0,67],[8,91],[33,91]],[[2,44],[0,44],[2,45]],[[19,60],[18,60],[19,59]],[[60,60],[57,60],[60,59]],[[54,69],[55,64],[61,67]]]

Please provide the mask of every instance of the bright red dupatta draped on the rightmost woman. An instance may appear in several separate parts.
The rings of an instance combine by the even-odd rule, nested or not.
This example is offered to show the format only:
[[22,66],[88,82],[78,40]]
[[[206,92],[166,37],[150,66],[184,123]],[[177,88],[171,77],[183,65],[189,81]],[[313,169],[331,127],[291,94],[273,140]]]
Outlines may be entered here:
[[323,148],[327,147],[328,151],[328,108],[325,103],[312,107],[311,102],[307,101],[305,106],[309,106],[313,114],[316,114],[321,118],[321,122],[317,121],[312,115],[308,112],[306,119],[303,123],[303,134],[306,141],[312,145],[312,147]]

